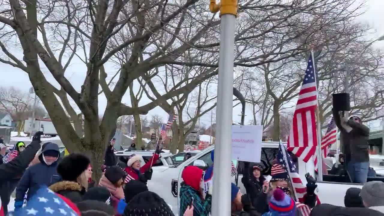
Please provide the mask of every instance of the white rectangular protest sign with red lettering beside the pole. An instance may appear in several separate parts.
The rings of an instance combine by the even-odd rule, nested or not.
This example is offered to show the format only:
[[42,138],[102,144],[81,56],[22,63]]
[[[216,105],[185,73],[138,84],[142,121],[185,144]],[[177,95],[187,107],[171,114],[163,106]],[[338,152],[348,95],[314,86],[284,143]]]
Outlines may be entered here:
[[233,160],[260,163],[262,152],[262,125],[232,125]]

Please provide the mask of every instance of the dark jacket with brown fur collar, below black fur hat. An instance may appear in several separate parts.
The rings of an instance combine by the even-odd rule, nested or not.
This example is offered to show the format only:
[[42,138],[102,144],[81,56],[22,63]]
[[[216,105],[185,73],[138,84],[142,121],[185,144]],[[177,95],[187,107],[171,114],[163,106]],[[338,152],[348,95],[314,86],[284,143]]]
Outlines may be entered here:
[[53,192],[70,199],[73,203],[81,202],[83,200],[83,195],[86,192],[85,188],[74,181],[60,181],[52,184],[49,188]]

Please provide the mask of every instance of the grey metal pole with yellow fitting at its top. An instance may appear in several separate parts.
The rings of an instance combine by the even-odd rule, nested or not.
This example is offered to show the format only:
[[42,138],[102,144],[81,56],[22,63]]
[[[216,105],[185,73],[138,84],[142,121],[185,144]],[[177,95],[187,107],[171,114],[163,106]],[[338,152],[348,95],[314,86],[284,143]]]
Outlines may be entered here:
[[231,143],[233,109],[233,59],[235,44],[235,21],[237,0],[222,0],[216,4],[210,0],[209,9],[220,10],[220,52],[217,89],[217,143],[215,145],[214,183],[212,194],[212,216],[225,216],[231,213]]

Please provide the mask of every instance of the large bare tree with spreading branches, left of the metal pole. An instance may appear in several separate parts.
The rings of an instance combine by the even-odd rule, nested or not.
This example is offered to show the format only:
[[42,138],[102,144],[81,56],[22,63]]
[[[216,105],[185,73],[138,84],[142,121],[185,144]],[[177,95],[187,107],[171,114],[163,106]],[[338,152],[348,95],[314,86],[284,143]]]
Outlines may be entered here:
[[[352,2],[241,2],[234,64],[259,66],[305,52],[306,44],[316,39],[314,34],[355,14]],[[146,114],[218,73],[220,20],[208,11],[205,2],[197,0],[8,0],[0,5],[0,23],[0,62],[28,74],[66,148],[87,153],[94,167],[103,161],[106,143],[119,116]],[[38,32],[41,37],[37,37]],[[23,53],[23,57],[18,58],[13,51]],[[185,61],[182,56],[187,52],[211,62]],[[86,66],[85,79],[78,90],[65,76],[73,59]],[[165,65],[202,66],[210,70],[188,80],[186,85],[186,80],[181,80],[169,92],[136,110],[121,103],[134,80],[142,77],[147,81],[144,76],[149,71]],[[47,81],[41,68],[55,78],[58,88]],[[101,120],[100,88],[107,98]],[[99,176],[99,169],[94,173]]]

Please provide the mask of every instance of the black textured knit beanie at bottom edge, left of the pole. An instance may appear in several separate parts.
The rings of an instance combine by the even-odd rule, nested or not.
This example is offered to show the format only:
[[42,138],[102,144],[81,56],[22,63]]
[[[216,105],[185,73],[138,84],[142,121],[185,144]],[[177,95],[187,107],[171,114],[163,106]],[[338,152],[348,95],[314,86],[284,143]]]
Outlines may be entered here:
[[124,215],[174,216],[164,199],[151,191],[144,191],[132,198],[124,209]]

